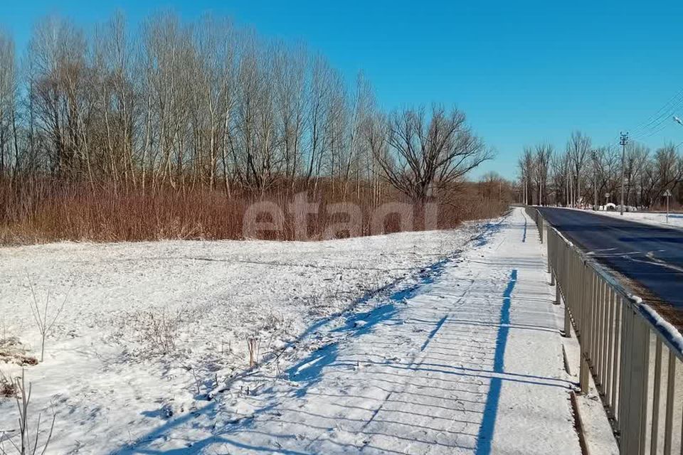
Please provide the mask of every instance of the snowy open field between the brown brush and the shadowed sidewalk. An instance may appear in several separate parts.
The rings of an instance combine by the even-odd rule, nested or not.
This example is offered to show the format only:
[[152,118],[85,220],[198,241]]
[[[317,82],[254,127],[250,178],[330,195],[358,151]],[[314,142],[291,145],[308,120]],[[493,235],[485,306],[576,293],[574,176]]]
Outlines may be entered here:
[[[209,392],[248,370],[247,338],[258,361],[317,343],[297,346],[369,291],[410,287],[420,269],[491,226],[328,242],[3,248],[0,338],[17,337],[14,350],[39,357],[29,279],[39,306],[49,298],[48,314],[65,299],[44,362],[26,367],[31,406],[57,415],[48,453],[107,454],[204,407]],[[18,369],[0,362],[5,375]],[[15,429],[14,406],[0,399],[0,434]]]

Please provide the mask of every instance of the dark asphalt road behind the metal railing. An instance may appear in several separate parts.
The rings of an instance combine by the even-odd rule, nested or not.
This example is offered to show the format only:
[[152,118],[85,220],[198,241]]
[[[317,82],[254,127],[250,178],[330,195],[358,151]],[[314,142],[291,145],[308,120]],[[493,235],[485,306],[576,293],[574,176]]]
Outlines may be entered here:
[[660,299],[674,306],[677,316],[683,318],[683,230],[581,210],[539,210],[551,225],[598,262],[650,293],[644,296],[646,299]]

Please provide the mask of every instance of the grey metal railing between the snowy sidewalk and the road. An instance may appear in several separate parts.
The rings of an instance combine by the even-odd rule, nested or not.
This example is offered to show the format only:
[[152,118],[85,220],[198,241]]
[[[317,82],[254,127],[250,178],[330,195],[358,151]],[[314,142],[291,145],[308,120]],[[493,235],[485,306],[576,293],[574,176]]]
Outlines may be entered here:
[[548,249],[556,304],[565,304],[581,349],[579,385],[589,375],[621,454],[683,454],[683,338],[591,257],[552,228],[536,208],[526,213]]

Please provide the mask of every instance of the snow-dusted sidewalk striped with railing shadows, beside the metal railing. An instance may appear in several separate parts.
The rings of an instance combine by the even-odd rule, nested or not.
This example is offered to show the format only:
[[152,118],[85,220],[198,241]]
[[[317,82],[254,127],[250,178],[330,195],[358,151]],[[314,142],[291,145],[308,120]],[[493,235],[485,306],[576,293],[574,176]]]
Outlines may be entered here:
[[335,330],[351,336],[288,380],[253,378],[257,393],[219,406],[243,419],[177,453],[580,454],[541,251],[514,209],[419,286],[349,316]]

